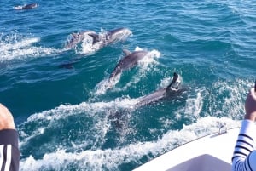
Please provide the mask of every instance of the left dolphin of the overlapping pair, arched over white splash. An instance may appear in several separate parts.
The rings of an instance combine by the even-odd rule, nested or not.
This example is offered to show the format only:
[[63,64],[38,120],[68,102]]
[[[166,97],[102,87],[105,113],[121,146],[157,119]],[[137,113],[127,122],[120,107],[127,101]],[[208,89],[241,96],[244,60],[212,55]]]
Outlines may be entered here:
[[95,31],[81,31],[78,33],[72,33],[71,39],[68,41],[65,48],[74,48],[78,43],[81,43],[86,36],[92,37],[92,44],[99,42],[99,37]]

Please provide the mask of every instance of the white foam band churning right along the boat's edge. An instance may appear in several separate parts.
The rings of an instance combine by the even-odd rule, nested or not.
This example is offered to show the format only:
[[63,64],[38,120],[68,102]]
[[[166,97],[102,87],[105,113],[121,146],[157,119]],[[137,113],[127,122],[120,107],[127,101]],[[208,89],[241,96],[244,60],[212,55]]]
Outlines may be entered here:
[[218,132],[219,125],[223,123],[227,128],[240,126],[240,122],[229,118],[204,117],[194,124],[184,125],[182,130],[170,130],[156,141],[138,141],[124,147],[75,153],[68,152],[65,147],[57,148],[54,152],[44,154],[41,159],[32,156],[23,158],[20,170],[119,170],[122,164],[136,162],[140,165],[143,157],[150,160],[190,140]]

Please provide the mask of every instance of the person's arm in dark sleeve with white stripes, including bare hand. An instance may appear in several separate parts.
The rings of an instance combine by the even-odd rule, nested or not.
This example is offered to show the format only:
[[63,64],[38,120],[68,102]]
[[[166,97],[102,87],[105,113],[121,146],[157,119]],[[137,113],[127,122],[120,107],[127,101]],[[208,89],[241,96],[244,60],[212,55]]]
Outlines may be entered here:
[[0,170],[19,170],[18,139],[12,114],[4,105],[0,104]]

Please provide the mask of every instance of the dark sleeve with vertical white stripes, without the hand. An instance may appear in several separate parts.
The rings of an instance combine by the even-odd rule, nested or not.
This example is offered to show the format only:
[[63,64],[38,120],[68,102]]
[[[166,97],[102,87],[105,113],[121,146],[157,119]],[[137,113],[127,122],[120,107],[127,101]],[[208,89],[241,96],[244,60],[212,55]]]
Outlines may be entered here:
[[15,129],[0,131],[0,170],[18,171],[20,166],[19,136]]

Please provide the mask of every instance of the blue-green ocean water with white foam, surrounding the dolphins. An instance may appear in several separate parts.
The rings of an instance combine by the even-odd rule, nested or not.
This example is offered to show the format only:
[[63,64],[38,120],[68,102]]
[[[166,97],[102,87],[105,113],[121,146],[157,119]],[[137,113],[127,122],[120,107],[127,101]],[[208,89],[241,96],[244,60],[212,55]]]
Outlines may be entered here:
[[[14,9],[27,3],[0,5],[0,102],[15,118],[20,170],[129,171],[220,125],[240,126],[256,78],[255,1],[38,0]],[[86,43],[64,48],[72,32],[119,27],[132,35],[90,54]],[[136,48],[150,58],[107,89],[122,49]],[[182,95],[133,107],[175,71]]]

